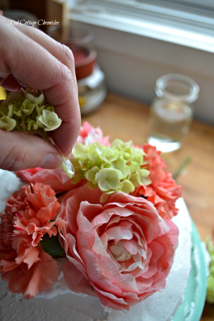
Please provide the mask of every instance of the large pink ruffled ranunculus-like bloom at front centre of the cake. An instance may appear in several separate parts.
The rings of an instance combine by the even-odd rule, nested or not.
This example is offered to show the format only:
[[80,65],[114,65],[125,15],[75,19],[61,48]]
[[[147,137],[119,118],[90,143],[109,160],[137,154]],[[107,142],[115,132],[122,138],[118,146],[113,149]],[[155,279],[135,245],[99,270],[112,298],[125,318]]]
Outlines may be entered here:
[[99,189],[69,191],[59,230],[68,262],[64,279],[75,292],[97,296],[104,306],[129,310],[162,291],[173,263],[178,229],[154,205],[125,193],[99,204]]

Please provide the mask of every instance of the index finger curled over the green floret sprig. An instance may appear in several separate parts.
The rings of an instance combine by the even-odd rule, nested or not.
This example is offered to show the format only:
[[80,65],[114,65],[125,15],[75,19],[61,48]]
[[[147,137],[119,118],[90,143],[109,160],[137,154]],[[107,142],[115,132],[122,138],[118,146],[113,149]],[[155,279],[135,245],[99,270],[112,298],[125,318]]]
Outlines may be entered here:
[[81,123],[76,80],[71,70],[46,48],[11,27],[0,23],[0,73],[13,74],[30,88],[44,91],[47,102],[55,107],[62,119],[61,126],[53,132],[53,139],[61,152],[68,156]]

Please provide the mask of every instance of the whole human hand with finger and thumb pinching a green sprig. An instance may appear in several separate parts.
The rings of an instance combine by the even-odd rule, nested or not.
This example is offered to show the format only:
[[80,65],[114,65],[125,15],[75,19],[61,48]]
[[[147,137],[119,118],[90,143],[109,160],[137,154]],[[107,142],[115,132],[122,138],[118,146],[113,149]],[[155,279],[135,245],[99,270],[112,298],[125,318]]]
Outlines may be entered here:
[[[9,91],[21,87],[43,90],[47,102],[62,119],[52,137],[68,157],[81,125],[74,58],[71,50],[26,25],[8,25],[0,15],[0,85]],[[0,129],[0,168],[57,168],[62,165],[58,150],[43,138]]]

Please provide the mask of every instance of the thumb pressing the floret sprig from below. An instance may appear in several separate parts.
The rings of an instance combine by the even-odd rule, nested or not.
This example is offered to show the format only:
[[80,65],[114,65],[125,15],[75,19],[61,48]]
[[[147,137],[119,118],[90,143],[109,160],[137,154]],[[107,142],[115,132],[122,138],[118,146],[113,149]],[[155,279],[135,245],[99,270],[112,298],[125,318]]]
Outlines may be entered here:
[[0,168],[17,171],[28,168],[57,168],[63,159],[45,139],[22,132],[0,129]]

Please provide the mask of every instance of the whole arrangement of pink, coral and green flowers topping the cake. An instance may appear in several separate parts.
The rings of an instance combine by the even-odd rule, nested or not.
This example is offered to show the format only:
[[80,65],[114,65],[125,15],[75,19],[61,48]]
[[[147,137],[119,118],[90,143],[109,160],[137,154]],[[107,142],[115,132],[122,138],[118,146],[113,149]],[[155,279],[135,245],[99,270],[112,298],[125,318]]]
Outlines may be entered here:
[[55,169],[16,172],[25,185],[0,214],[1,277],[31,299],[57,280],[63,256],[68,288],[128,310],[166,285],[181,187],[154,146],[110,143],[87,122],[70,162],[65,183]]

